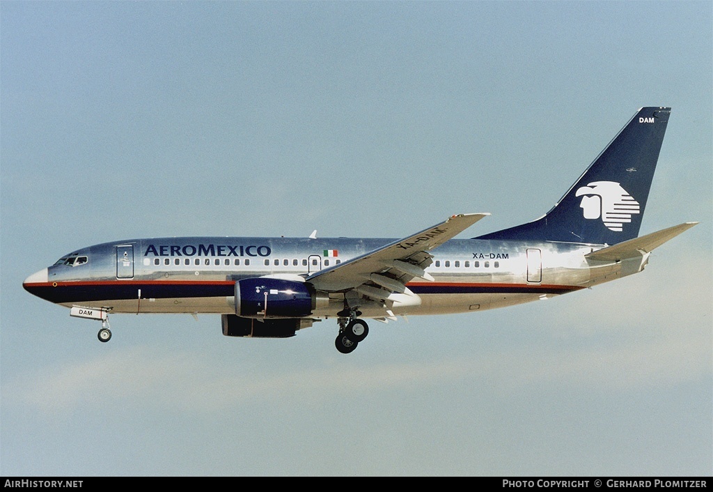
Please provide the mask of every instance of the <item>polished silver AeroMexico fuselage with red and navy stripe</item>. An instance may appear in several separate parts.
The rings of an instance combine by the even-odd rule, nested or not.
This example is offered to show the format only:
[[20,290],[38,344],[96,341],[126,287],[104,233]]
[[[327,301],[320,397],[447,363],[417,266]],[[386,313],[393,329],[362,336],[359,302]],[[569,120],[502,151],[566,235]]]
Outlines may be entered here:
[[[132,239],[74,251],[26,282],[37,296],[62,306],[113,313],[235,313],[235,283],[279,276],[304,281],[312,273],[373,251],[393,239],[183,237]],[[593,261],[604,245],[451,239],[431,251],[426,271],[406,286],[416,301],[396,303],[395,315],[462,313],[512,306],[640,271],[635,265]],[[334,256],[336,255],[336,256]],[[46,275],[46,276],[45,276]],[[336,317],[344,293],[317,292],[312,318]],[[383,316],[365,301],[364,318]]]

